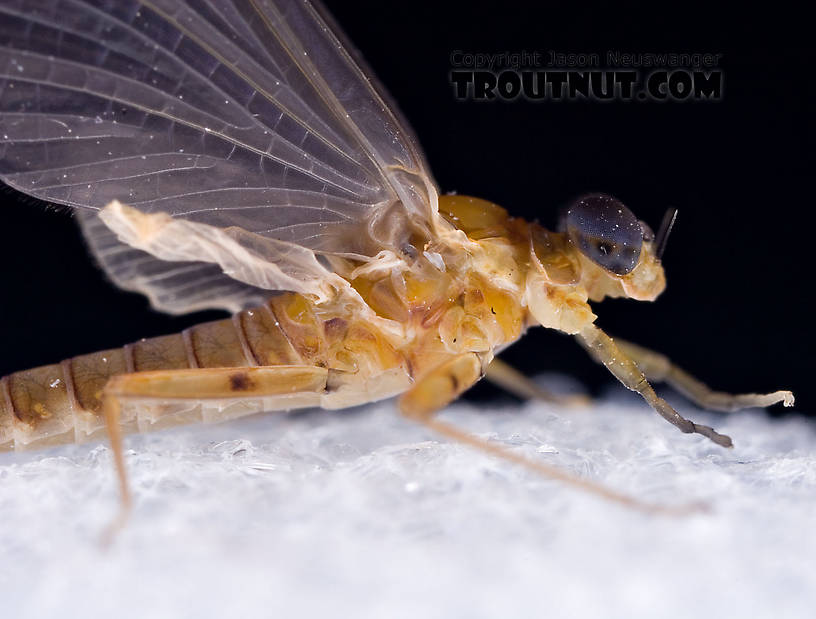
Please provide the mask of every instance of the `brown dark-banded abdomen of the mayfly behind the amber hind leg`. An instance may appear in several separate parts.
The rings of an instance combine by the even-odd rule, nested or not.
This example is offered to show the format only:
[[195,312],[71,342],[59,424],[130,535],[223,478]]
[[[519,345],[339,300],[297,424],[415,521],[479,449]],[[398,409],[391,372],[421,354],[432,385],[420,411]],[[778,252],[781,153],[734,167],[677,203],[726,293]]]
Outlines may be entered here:
[[[0,379],[0,450],[83,442],[104,435],[102,391],[117,374],[325,365],[327,334],[335,326],[324,326],[302,297],[283,294],[232,318],[182,333],[16,372]],[[179,406],[139,407],[136,414],[123,419],[123,425],[127,431],[144,431],[204,420],[200,406]]]

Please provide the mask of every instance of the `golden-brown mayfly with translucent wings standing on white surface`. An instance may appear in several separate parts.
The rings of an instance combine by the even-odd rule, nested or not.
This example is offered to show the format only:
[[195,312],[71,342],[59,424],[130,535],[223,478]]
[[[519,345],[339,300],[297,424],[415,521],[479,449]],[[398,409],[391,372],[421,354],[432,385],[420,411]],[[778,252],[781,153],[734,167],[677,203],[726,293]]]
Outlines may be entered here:
[[[75,209],[99,265],[174,314],[232,318],[0,381],[0,447],[399,395],[409,418],[539,473],[434,414],[540,325],[574,335],[663,418],[718,445],[649,379],[716,410],[793,403],[713,392],[594,324],[590,301],[653,300],[654,235],[591,194],[551,232],[440,195],[407,124],[307,0],[0,0],[0,177]],[[669,218],[670,219],[670,218]]]

